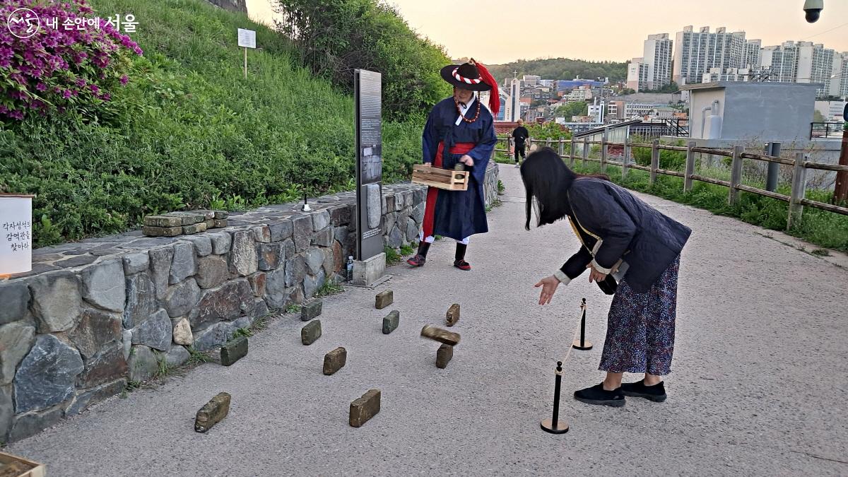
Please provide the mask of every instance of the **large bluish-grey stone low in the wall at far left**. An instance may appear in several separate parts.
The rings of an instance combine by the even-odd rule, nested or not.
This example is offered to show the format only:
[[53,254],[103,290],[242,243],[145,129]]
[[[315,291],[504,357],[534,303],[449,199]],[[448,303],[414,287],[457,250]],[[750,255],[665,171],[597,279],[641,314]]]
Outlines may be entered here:
[[53,334],[40,334],[14,378],[15,412],[44,409],[74,395],[75,379],[85,367],[80,353]]

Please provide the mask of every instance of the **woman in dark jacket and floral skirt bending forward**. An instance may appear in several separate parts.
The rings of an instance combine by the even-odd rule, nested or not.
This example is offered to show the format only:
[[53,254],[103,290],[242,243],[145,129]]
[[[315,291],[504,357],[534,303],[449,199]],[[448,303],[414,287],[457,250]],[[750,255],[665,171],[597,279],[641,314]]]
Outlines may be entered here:
[[[607,318],[601,384],[574,393],[575,399],[612,407],[624,396],[665,401],[661,376],[671,372],[680,252],[689,227],[664,216],[604,175],[571,171],[553,149],[533,152],[521,168],[527,193],[527,222],[536,207],[538,227],[568,218],[580,250],[536,287],[539,305],[557,287],[589,269],[589,283],[618,278]],[[623,373],[644,373],[622,384]]]

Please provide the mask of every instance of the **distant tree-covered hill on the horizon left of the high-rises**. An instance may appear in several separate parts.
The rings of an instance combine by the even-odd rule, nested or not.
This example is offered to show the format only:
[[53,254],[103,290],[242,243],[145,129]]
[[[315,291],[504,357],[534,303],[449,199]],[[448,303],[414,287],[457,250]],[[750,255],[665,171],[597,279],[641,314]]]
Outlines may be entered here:
[[519,59],[506,65],[493,65],[492,75],[503,83],[504,78],[518,71],[518,76],[538,75],[546,80],[572,80],[609,76],[610,81],[624,81],[628,77],[628,64],[615,61],[585,61],[583,59]]

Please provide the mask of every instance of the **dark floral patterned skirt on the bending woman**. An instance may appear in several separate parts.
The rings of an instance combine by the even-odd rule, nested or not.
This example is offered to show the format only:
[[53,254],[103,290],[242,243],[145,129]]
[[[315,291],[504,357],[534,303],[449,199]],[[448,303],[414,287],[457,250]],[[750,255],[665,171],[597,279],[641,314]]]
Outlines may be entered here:
[[656,375],[672,372],[679,269],[678,255],[647,293],[634,292],[627,279],[618,283],[607,318],[600,370]]

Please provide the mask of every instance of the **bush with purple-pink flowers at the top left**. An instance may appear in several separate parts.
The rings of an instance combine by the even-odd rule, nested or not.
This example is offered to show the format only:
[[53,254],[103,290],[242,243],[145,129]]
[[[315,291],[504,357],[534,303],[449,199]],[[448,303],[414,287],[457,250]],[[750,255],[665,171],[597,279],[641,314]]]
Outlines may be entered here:
[[[38,20],[20,8],[35,12]],[[9,22],[10,15],[24,21]],[[77,19],[96,19],[98,25],[64,28]],[[0,121],[7,123],[33,113],[96,116],[110,92],[129,81],[132,57],[142,54],[85,0],[3,0],[0,20]]]

